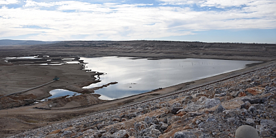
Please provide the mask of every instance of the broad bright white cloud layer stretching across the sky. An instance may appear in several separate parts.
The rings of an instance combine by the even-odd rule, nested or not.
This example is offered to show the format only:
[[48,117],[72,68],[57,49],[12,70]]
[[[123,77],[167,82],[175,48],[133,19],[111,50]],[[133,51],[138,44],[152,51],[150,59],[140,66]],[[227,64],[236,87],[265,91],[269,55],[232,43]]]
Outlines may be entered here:
[[193,31],[200,30],[276,28],[276,2],[268,0],[234,3],[193,1],[201,6],[221,8],[246,3],[243,8],[200,12],[181,6],[25,2],[22,8],[0,8],[0,38],[30,34],[28,39],[38,40],[70,40],[76,35],[86,36],[83,37],[86,40],[158,39],[193,34]]

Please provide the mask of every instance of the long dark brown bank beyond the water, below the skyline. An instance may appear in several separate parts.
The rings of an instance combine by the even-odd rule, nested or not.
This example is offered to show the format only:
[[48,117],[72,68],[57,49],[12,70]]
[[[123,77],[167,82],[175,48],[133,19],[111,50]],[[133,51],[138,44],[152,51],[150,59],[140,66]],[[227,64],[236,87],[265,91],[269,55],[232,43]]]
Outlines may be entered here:
[[270,61],[275,59],[275,44],[203,43],[187,41],[61,41],[49,45],[1,46],[1,57],[33,55],[86,55],[143,57],[149,59],[205,58]]

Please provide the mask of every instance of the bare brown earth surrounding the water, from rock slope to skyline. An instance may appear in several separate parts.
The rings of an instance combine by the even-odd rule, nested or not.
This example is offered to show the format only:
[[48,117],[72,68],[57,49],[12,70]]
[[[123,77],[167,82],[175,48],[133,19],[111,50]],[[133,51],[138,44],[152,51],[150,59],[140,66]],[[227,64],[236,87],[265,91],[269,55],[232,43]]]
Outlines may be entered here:
[[[19,92],[28,88],[39,86],[52,81],[55,76],[60,78],[41,88],[22,92],[0,99],[0,135],[6,137],[23,132],[28,129],[46,126],[47,124],[64,121],[80,115],[86,115],[99,110],[108,110],[126,103],[143,101],[159,95],[165,95],[201,83],[214,81],[222,77],[227,77],[233,73],[251,70],[260,66],[265,66],[276,58],[275,44],[257,43],[201,43],[201,42],[177,42],[177,41],[63,41],[51,45],[39,46],[2,46],[0,47],[0,96],[13,92]],[[37,56],[39,61],[33,60],[9,60],[5,57]],[[47,56],[47,57],[42,57]],[[37,66],[34,64],[49,63],[56,61],[63,63],[62,59],[72,59],[79,61],[79,56],[101,57],[101,56],[122,56],[148,59],[184,59],[184,58],[206,58],[206,59],[235,59],[265,61],[259,65],[251,65],[244,70],[229,72],[224,75],[201,79],[190,83],[181,83],[176,86],[152,90],[141,95],[117,99],[105,102],[94,95],[92,88],[82,89],[90,83],[96,83],[96,72],[82,70],[81,64],[63,64],[60,66]],[[81,62],[81,61],[80,61]],[[26,65],[28,64],[28,65]],[[111,83],[112,84],[112,83]],[[110,85],[110,84],[106,84]],[[104,87],[104,86],[103,86]],[[75,90],[86,93],[70,97],[69,99],[57,98],[47,102],[32,105],[32,100],[49,97],[49,91],[57,88]],[[97,103],[97,104],[95,104]],[[30,104],[30,105],[29,105]],[[94,104],[94,105],[93,105]],[[29,106],[26,106],[29,105]],[[92,105],[92,106],[87,106]],[[17,107],[19,108],[10,108]],[[50,107],[51,106],[51,107]],[[83,108],[71,108],[84,106]],[[37,108],[52,110],[41,110]],[[57,110],[55,110],[57,109]]]

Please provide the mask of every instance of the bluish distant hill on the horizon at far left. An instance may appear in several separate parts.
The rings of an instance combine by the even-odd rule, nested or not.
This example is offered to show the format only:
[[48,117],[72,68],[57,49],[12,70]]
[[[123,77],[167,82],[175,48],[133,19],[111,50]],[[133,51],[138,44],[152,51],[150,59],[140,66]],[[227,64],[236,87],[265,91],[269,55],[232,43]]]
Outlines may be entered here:
[[0,40],[0,46],[14,46],[14,45],[39,45],[39,44],[51,44],[59,41],[34,41],[34,40]]

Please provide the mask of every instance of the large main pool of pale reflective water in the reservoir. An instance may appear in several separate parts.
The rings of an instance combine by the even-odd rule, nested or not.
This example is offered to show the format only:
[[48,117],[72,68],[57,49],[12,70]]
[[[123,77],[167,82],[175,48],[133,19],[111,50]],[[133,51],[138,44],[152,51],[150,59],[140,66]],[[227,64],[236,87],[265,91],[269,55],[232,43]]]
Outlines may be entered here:
[[81,57],[80,60],[87,63],[87,70],[106,73],[101,75],[101,82],[85,88],[102,86],[114,81],[118,82],[115,85],[95,91],[95,93],[109,99],[127,97],[178,83],[203,79],[233,70],[240,70],[249,63],[257,63],[257,61],[217,59],[148,60],[128,57]]

